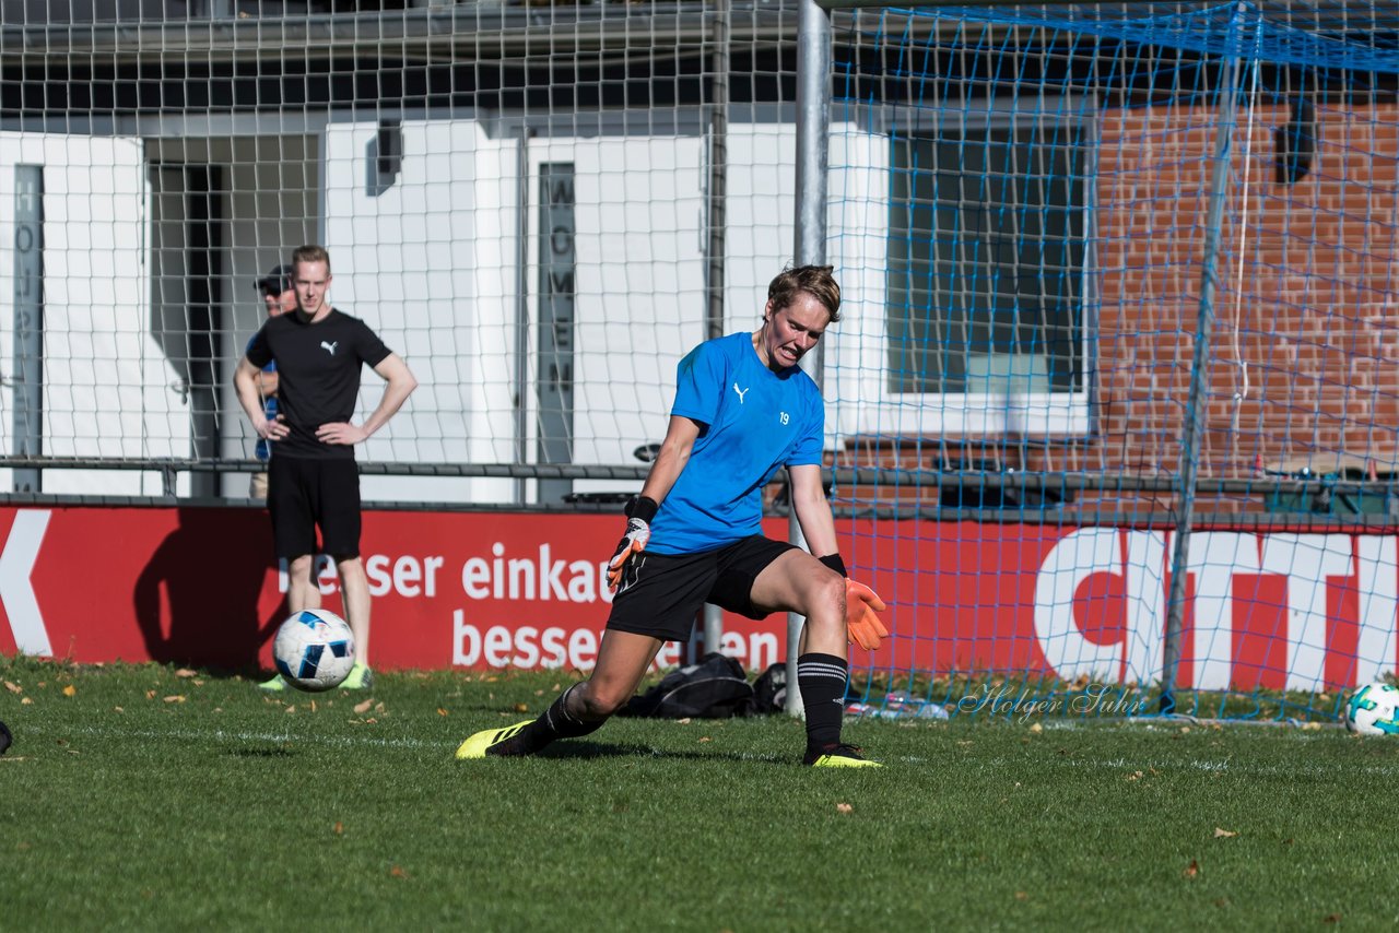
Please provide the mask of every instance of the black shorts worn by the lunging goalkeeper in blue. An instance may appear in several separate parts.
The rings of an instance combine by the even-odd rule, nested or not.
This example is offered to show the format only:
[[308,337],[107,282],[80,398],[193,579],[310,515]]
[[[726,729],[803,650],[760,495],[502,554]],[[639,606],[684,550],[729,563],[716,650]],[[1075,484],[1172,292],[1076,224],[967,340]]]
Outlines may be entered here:
[[607,628],[662,641],[690,638],[705,603],[748,618],[765,618],[771,608],[753,604],[753,581],[796,546],[754,534],[702,554],[652,554],[631,558]]

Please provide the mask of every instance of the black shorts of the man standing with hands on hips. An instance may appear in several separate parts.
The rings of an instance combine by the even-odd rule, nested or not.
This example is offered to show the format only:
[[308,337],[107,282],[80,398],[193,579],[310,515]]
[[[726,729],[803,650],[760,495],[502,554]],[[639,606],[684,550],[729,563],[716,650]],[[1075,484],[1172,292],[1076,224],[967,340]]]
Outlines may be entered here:
[[360,467],[354,460],[273,455],[267,462],[267,511],[277,557],[360,557]]

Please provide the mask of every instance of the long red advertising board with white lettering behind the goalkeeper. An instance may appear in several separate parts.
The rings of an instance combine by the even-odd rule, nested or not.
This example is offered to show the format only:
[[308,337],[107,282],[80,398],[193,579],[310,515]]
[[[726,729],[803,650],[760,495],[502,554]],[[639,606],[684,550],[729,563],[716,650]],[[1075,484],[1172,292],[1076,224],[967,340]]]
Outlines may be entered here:
[[[1171,536],[1041,525],[844,520],[852,574],[894,636],[852,662],[936,673],[1160,677]],[[607,515],[371,511],[371,663],[589,669],[607,618]],[[786,537],[785,520],[768,533]],[[270,667],[285,578],[248,508],[0,509],[0,652],[77,662]],[[1395,670],[1396,540],[1199,530],[1177,683],[1349,687]],[[339,608],[329,565],[318,578]],[[785,657],[786,617],[725,617],[750,669]],[[680,659],[667,646],[663,664]]]

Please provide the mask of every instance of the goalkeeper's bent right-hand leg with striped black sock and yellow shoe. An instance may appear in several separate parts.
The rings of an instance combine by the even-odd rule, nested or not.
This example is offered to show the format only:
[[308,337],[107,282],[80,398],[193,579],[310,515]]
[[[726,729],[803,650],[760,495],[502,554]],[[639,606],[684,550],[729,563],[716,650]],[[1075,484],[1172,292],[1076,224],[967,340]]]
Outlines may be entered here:
[[874,767],[841,741],[845,684],[849,680],[845,581],[806,551],[788,551],[753,581],[755,606],[806,617],[797,642],[796,683],[806,711],[803,762],[823,768]]

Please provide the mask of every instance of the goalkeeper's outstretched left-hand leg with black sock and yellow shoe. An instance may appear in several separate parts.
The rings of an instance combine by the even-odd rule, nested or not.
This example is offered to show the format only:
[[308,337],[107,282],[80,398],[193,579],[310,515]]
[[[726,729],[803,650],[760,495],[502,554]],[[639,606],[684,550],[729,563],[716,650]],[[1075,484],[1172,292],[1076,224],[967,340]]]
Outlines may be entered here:
[[557,739],[579,739],[596,732],[637,692],[662,643],[649,635],[603,632],[597,666],[588,680],[560,694],[539,719],[476,733],[462,743],[456,757],[532,755]]

